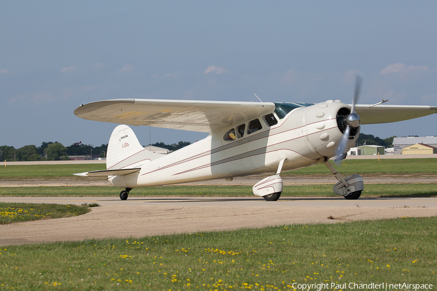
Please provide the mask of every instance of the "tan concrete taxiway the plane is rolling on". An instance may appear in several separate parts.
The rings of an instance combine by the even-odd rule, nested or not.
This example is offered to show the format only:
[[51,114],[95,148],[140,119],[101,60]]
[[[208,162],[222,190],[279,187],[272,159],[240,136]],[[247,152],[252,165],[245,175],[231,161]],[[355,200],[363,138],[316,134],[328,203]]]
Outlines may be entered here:
[[1,225],[0,246],[437,215],[437,198],[283,197],[268,202],[257,197],[132,196],[126,201],[118,197],[0,197],[0,201],[101,205],[76,217]]

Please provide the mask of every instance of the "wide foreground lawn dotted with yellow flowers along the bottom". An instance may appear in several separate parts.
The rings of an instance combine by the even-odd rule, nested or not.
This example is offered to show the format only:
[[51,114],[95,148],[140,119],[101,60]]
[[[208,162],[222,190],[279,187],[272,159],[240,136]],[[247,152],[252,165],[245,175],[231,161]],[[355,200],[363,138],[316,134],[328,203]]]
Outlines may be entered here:
[[435,284],[436,228],[436,217],[400,218],[8,246],[0,248],[0,290]]

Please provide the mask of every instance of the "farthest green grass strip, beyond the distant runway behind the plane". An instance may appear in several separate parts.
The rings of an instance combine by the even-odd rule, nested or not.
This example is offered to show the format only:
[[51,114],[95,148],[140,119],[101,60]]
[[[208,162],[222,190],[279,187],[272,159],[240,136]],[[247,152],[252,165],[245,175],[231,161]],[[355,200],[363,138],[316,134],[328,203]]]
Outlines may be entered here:
[[[62,165],[10,165],[0,166],[0,178],[53,178],[71,177],[75,173],[83,173],[106,169],[105,164],[62,164]],[[399,160],[344,160],[337,167],[345,176],[352,174],[435,174],[437,159],[399,159]],[[319,175],[331,172],[323,164],[306,167],[300,170],[282,173],[287,175]]]

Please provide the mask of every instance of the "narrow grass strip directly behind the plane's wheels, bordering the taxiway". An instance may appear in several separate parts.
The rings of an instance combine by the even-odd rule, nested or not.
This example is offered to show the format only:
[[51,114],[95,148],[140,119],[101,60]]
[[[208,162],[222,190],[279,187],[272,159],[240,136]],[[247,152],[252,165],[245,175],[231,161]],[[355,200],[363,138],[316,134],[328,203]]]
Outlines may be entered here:
[[[284,186],[284,197],[336,197],[333,185]],[[0,187],[0,197],[117,197],[117,187]],[[159,186],[133,189],[129,196],[254,197],[250,186]],[[435,197],[435,184],[365,184],[362,197]],[[1,201],[1,198],[0,198]]]

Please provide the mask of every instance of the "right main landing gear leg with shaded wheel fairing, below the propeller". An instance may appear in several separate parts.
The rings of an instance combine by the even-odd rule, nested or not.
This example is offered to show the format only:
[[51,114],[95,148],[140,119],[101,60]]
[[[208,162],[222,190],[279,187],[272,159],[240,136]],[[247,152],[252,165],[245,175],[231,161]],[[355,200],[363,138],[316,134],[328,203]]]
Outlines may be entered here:
[[343,178],[336,171],[334,166],[328,162],[327,158],[322,161],[325,166],[336,176],[338,183],[334,185],[334,194],[344,196],[348,200],[358,199],[361,192],[364,190],[363,178],[360,175],[351,175],[349,177]]

